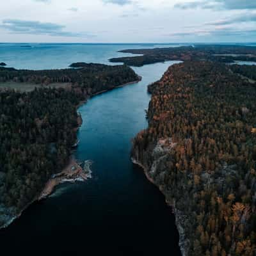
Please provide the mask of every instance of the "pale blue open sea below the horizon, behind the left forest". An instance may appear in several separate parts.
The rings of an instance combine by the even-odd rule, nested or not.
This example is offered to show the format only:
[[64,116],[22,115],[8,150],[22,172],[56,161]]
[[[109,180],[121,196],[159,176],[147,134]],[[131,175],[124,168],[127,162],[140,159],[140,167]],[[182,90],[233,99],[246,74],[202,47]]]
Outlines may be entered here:
[[176,46],[180,44],[0,44],[0,62],[33,70],[67,68],[81,61],[117,65],[108,60],[132,55],[120,50]]

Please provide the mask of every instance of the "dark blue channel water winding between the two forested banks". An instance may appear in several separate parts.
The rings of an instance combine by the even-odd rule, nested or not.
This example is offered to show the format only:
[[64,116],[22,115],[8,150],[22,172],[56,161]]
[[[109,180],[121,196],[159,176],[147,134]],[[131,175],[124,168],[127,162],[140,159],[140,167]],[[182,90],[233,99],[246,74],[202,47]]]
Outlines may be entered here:
[[79,109],[84,122],[75,155],[93,161],[93,179],[63,184],[31,205],[0,231],[1,255],[180,255],[171,209],[129,157],[131,138],[147,127],[147,84],[172,63],[134,68],[140,83]]

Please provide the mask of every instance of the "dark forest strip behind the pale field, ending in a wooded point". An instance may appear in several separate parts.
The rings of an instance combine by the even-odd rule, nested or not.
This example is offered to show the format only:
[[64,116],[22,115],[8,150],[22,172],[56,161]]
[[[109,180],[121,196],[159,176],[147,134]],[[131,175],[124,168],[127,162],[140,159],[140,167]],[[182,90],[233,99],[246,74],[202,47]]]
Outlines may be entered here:
[[77,90],[87,94],[137,80],[138,76],[135,72],[125,65],[108,66],[84,63],[82,68],[56,70],[17,70],[0,67],[0,85],[1,82],[6,81],[42,85],[70,83],[73,87],[78,87]]

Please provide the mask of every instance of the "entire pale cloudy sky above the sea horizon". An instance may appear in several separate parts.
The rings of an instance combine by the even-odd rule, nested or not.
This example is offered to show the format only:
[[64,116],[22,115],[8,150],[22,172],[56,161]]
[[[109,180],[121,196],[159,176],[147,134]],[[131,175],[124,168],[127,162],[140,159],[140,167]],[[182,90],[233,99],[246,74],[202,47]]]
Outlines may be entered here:
[[8,0],[0,42],[256,42],[256,0]]

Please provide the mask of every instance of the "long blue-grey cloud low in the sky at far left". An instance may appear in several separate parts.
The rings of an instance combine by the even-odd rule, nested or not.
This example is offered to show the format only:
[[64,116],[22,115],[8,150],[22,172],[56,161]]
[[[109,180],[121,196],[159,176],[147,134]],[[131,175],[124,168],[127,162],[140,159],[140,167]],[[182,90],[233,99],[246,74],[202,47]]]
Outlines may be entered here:
[[51,35],[51,36],[93,36],[86,33],[73,33],[64,31],[65,26],[51,22],[40,22],[37,20],[15,20],[5,19],[0,28],[4,28],[12,33]]

